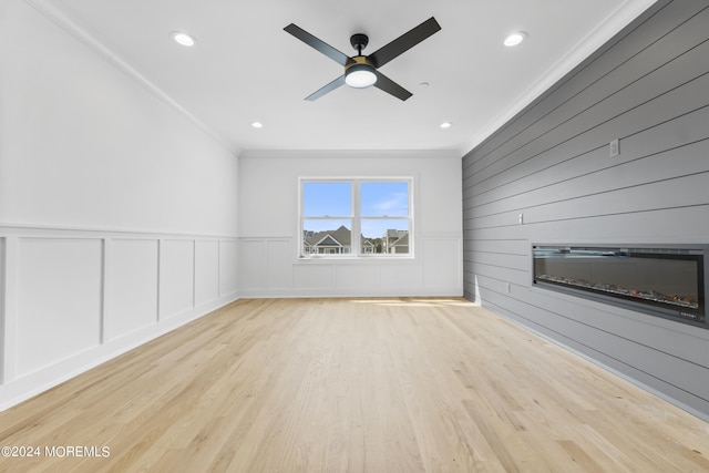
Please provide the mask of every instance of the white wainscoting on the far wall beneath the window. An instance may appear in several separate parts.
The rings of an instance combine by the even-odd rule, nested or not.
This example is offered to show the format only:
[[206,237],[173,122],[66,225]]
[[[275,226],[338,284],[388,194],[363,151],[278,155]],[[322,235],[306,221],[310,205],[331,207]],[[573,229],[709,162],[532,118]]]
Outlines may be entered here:
[[297,259],[295,239],[239,240],[242,297],[460,296],[462,238],[423,234],[415,258]]

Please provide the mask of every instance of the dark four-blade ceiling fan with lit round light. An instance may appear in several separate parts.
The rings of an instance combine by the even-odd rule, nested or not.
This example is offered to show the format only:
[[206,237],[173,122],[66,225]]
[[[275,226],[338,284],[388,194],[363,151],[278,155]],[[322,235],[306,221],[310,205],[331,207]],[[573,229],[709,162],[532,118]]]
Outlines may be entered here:
[[398,99],[407,100],[412,95],[411,92],[379,72],[378,69],[401,53],[419,44],[431,34],[441,30],[441,25],[435,21],[435,18],[431,17],[423,23],[403,33],[401,37],[391,41],[389,44],[381,47],[369,55],[362,55],[362,50],[369,43],[367,34],[352,34],[350,38],[350,44],[352,44],[352,48],[357,50],[357,55],[353,56],[348,56],[343,52],[338,51],[325,41],[314,37],[294,23],[284,28],[284,30],[298,38],[304,43],[320,51],[338,64],[345,66],[345,73],[342,75],[311,93],[306,97],[306,100],[317,100],[328,92],[332,92],[342,84],[347,84],[356,89],[363,89],[373,85]]

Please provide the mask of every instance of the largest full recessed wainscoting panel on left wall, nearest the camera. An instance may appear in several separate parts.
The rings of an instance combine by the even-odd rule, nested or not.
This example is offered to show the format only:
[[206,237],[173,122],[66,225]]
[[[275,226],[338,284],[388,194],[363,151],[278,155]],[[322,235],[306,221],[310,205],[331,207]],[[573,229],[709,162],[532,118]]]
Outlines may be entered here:
[[18,376],[100,343],[102,260],[101,239],[20,239]]

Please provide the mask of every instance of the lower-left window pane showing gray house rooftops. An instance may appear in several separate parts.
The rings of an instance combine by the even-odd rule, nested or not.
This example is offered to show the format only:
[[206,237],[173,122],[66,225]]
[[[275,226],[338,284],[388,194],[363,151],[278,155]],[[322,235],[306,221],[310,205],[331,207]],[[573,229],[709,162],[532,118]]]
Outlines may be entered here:
[[350,255],[352,253],[352,220],[304,219],[304,255]]

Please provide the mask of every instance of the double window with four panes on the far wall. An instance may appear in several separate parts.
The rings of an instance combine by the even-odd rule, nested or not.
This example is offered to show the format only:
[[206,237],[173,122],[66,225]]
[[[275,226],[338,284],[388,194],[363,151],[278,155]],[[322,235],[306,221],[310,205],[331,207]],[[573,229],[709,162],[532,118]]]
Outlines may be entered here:
[[300,179],[300,257],[413,256],[410,178]]

